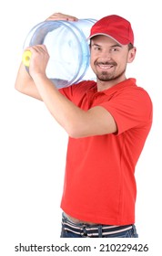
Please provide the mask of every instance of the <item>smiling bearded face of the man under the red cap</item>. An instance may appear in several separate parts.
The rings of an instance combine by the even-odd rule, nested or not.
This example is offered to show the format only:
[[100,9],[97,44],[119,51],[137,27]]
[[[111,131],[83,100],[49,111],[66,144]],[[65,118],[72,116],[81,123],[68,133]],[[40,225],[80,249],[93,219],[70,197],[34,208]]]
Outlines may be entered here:
[[128,50],[127,45],[120,45],[106,36],[91,39],[91,68],[96,73],[98,82],[108,85],[126,80],[127,63],[135,58],[136,48]]

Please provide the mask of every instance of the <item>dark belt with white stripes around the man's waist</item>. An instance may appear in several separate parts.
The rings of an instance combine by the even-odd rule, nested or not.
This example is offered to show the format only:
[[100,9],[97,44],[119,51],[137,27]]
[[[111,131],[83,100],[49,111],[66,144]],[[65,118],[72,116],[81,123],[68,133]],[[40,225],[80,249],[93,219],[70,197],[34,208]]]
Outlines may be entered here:
[[73,232],[75,234],[81,235],[83,237],[98,238],[110,234],[117,234],[123,231],[132,229],[132,225],[126,226],[110,226],[110,225],[100,225],[94,224],[89,225],[85,223],[74,223],[63,215],[62,225],[66,231]]

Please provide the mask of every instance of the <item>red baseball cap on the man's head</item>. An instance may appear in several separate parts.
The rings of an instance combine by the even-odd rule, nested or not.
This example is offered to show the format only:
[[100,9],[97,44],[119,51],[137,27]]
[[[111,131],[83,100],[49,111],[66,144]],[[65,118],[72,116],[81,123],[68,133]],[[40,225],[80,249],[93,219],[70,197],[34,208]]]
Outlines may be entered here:
[[89,39],[97,35],[112,37],[121,45],[134,45],[134,34],[131,24],[121,16],[105,16],[96,21],[91,28]]

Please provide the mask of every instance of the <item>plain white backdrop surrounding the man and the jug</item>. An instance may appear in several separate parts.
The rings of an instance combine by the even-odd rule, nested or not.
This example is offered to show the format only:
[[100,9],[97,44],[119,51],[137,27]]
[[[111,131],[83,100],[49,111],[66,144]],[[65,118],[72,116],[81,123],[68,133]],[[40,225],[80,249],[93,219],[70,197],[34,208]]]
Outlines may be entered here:
[[0,4],[0,232],[3,256],[15,255],[14,246],[19,242],[50,243],[60,235],[59,206],[67,135],[43,102],[14,88],[27,33],[54,12],[96,19],[116,14],[126,17],[132,24],[137,58],[129,64],[127,77],[135,77],[137,85],[148,91],[154,104],[154,123],[136,169],[136,224],[139,241],[160,242],[162,16],[159,4],[157,0],[5,0]]

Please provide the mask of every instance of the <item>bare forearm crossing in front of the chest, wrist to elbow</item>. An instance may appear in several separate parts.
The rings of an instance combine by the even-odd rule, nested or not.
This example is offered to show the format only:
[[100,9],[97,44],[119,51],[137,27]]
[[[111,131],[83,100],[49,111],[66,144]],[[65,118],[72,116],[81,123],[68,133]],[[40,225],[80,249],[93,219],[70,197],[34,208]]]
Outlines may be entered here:
[[55,85],[46,78],[46,75],[35,74],[33,76],[37,91],[45,102],[49,112],[56,119],[69,136],[76,137],[78,129],[82,129],[81,123],[86,118],[86,112],[78,108],[73,102],[66,99],[55,87]]

